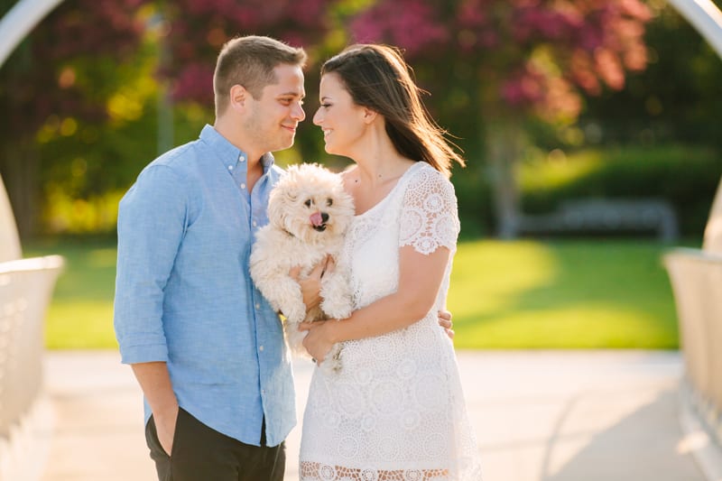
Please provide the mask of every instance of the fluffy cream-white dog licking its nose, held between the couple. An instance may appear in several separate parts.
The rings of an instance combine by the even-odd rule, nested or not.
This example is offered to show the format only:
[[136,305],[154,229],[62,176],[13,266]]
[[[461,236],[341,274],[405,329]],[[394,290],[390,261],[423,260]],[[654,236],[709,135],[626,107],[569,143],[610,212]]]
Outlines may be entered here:
[[[268,199],[269,224],[258,229],[251,252],[251,277],[255,285],[286,318],[289,345],[297,353],[306,333],[304,320],[345,319],[351,314],[351,288],[345,266],[338,264],[344,234],[354,217],[354,201],[338,176],[319,164],[289,167]],[[300,266],[300,279],[330,254],[336,267],[321,278],[320,307],[306,312],[301,286],[289,272]],[[338,370],[340,347],[322,363]]]

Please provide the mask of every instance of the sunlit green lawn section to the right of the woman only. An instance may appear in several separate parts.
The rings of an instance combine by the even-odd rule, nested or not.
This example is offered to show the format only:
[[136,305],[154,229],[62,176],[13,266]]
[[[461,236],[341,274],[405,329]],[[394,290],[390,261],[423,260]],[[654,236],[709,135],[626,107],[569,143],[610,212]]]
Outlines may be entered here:
[[461,244],[449,291],[455,344],[676,348],[666,249],[638,240]]

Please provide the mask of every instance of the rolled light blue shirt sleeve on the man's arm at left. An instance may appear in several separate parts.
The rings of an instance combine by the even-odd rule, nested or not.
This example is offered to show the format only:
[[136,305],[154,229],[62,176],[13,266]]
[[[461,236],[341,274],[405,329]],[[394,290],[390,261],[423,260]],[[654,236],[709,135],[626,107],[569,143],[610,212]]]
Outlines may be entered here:
[[163,290],[188,225],[185,185],[170,167],[151,165],[118,208],[114,323],[126,364],[168,360]]

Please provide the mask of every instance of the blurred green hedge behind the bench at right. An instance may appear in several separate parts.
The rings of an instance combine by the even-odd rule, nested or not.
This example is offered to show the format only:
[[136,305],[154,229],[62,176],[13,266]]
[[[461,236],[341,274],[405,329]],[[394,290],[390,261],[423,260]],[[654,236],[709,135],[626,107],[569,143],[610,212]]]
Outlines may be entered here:
[[520,169],[525,213],[550,212],[565,199],[658,198],[676,210],[682,234],[704,231],[722,156],[690,145],[584,150],[569,156],[552,151]]

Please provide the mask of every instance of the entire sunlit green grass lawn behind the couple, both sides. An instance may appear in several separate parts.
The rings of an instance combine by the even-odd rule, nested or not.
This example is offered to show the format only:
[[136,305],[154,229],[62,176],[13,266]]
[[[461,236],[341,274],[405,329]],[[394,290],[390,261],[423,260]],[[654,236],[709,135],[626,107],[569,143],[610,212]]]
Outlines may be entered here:
[[[674,300],[648,240],[483,240],[459,245],[449,291],[458,348],[676,348]],[[116,347],[113,241],[43,241],[66,259],[47,315],[50,348]]]

